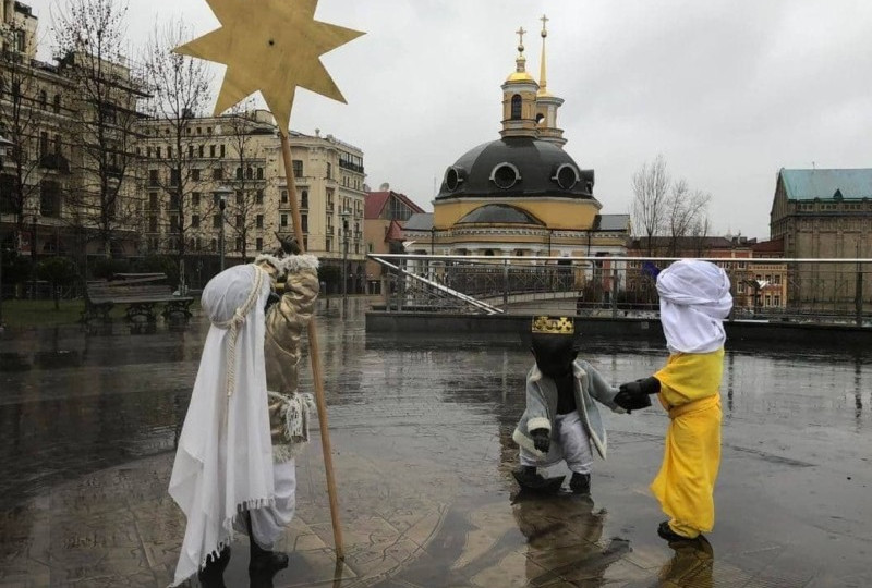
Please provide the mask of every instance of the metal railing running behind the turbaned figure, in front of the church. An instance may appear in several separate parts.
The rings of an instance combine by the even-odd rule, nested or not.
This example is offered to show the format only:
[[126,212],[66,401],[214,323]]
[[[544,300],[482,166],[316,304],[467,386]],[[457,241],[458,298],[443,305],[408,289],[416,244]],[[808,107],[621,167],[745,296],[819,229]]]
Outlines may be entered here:
[[[662,257],[491,257],[370,254],[385,307],[474,314],[555,310],[652,317]],[[872,323],[872,259],[706,258],[730,279],[732,320]]]

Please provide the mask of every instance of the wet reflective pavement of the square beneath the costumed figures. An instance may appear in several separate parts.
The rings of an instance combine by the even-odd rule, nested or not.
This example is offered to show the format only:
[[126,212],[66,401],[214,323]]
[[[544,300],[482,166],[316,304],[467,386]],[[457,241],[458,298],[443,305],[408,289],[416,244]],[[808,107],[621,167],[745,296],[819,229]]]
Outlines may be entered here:
[[[315,442],[298,463],[289,568],[249,578],[242,537],[228,586],[872,585],[870,354],[731,346],[716,526],[670,546],[647,491],[661,411],[605,415],[591,497],[519,494],[520,340],[367,335],[364,308],[332,301],[318,317],[346,562]],[[205,332],[0,338],[0,588],[169,583],[184,518],[166,488]],[[602,340],[582,355],[613,381],[665,357]]]

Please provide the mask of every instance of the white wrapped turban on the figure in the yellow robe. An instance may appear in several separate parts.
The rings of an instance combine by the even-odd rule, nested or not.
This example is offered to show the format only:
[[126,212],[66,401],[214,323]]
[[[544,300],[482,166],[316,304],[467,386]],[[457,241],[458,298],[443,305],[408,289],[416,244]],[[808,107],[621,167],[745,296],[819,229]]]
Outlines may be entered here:
[[671,353],[711,353],[724,346],[732,296],[723,269],[699,259],[676,261],[657,275],[657,293]]

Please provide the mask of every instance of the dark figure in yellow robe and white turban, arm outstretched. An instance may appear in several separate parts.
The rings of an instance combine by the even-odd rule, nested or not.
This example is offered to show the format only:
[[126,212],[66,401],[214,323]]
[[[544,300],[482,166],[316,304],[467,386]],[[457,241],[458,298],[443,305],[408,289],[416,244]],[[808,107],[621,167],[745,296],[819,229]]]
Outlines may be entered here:
[[726,272],[707,261],[681,260],[662,271],[657,293],[669,359],[654,376],[621,385],[615,397],[630,408],[658,394],[669,413],[663,465],[651,485],[669,516],[657,534],[669,541],[695,539],[714,527],[729,290]]

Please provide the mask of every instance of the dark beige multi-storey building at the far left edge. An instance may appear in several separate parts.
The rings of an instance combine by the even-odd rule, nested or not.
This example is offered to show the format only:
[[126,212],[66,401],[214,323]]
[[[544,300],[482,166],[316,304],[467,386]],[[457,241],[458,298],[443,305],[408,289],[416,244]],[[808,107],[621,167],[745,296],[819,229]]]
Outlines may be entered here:
[[[34,262],[43,255],[82,261],[86,253],[135,253],[140,203],[131,162],[145,97],[140,84],[126,65],[83,53],[56,64],[36,60],[31,7],[1,5],[0,135],[10,144],[0,152],[0,243]],[[86,78],[105,90],[99,109]],[[99,120],[111,132],[98,142]]]

